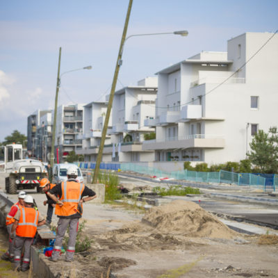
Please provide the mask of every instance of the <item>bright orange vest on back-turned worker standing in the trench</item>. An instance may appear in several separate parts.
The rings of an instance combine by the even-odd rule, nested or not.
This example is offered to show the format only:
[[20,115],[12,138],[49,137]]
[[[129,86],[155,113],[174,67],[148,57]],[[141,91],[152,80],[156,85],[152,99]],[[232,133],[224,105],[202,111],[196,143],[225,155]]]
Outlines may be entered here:
[[37,231],[39,212],[35,208],[19,207],[20,218],[17,224],[16,234],[24,238],[33,238]]

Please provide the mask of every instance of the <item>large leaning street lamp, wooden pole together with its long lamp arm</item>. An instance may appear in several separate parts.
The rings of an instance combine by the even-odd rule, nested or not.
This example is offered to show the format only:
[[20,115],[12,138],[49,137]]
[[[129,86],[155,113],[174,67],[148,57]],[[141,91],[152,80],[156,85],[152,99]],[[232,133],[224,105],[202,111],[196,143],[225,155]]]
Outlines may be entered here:
[[122,65],[122,52],[124,50],[124,43],[126,42],[126,40],[128,40],[131,37],[142,36],[142,35],[166,35],[166,34],[174,34],[174,35],[182,35],[182,36],[188,35],[188,31],[174,31],[174,32],[169,32],[169,33],[148,33],[148,34],[129,35],[129,37],[125,38],[126,28],[127,28],[127,24],[129,21],[129,13],[130,13],[130,9],[131,9],[131,3],[132,3],[132,1],[129,2],[129,10],[128,10],[128,14],[126,15],[126,24],[124,26],[122,42],[120,44],[120,50],[119,50],[119,54],[118,54],[118,58],[117,58],[117,64],[116,64],[115,74],[114,74],[113,83],[112,83],[112,87],[111,87],[111,93],[110,93],[110,97],[109,97],[109,101],[108,101],[106,117],[105,117],[105,121],[104,121],[104,128],[102,129],[101,141],[100,141],[100,145],[99,145],[99,154],[97,155],[97,161],[96,161],[96,165],[95,165],[95,171],[94,171],[94,177],[92,179],[92,183],[97,183],[97,176],[99,174],[99,165],[101,163],[101,157],[102,157],[102,153],[104,151],[104,142],[105,142],[105,138],[106,138],[108,121],[109,121],[109,117],[111,114],[111,108],[112,108],[112,104],[113,104],[113,97],[114,97],[115,87],[116,87],[116,83],[117,83],[117,76],[119,74],[120,66]]

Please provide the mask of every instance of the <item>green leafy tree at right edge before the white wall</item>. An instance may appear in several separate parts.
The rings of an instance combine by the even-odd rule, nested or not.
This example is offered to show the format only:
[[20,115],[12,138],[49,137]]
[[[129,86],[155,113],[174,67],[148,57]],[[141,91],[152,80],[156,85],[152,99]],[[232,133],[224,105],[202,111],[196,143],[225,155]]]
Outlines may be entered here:
[[259,130],[250,143],[247,154],[252,165],[261,173],[275,173],[278,169],[277,127],[270,127],[269,133]]

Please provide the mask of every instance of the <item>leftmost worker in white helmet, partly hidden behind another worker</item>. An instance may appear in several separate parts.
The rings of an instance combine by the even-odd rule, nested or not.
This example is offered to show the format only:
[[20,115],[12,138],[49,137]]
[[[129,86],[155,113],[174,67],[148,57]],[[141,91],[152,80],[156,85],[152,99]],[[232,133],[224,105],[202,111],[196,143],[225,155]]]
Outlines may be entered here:
[[13,262],[13,258],[15,256],[14,251],[13,251],[13,236],[12,236],[12,227],[13,227],[13,222],[15,222],[14,216],[15,213],[19,210],[19,206],[24,206],[24,198],[26,197],[26,193],[24,191],[20,191],[18,195],[18,202],[13,204],[13,206],[10,208],[10,212],[8,213],[6,217],[6,227],[9,235],[9,247],[6,253],[4,253],[1,256],[2,260],[5,261],[11,261]]

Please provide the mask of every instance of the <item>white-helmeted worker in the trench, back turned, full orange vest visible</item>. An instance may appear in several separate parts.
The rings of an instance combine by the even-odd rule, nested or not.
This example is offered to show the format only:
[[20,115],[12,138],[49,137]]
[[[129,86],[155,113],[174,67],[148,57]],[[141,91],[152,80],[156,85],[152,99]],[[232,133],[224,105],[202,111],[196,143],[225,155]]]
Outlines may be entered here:
[[[24,206],[20,206],[15,214],[15,222],[12,227],[12,234],[15,232],[14,240],[15,248],[15,269],[17,271],[26,271],[29,269],[31,244],[37,231],[37,226],[45,223],[44,218],[38,211],[33,208],[33,197],[26,195],[24,198]],[[21,263],[22,248],[24,247],[24,255]]]

